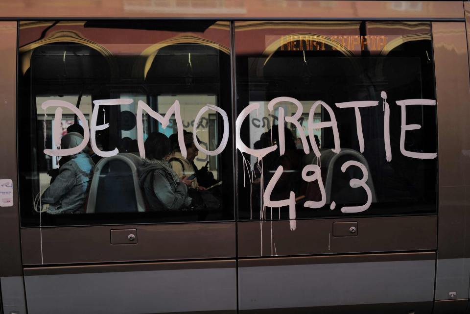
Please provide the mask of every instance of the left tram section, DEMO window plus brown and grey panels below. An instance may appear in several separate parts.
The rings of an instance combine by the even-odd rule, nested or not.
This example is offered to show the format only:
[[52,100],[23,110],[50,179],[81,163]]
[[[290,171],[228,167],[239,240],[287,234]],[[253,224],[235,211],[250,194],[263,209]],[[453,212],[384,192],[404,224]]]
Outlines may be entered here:
[[28,313],[235,313],[229,23],[24,22],[19,45]]

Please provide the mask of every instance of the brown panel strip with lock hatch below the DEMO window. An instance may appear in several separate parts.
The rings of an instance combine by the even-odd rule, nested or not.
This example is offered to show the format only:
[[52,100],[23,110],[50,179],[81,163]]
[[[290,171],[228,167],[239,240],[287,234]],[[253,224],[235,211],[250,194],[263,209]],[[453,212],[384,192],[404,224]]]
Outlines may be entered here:
[[[136,244],[110,241],[110,231],[136,229]],[[110,263],[235,257],[235,222],[22,229],[23,264]]]

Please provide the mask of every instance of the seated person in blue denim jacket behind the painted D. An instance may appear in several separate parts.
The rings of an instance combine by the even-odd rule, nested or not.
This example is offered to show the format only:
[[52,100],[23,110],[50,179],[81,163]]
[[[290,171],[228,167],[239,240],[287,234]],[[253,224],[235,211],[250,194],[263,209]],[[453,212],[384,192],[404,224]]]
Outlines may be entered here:
[[[83,141],[77,132],[67,133],[60,142],[61,148],[73,148]],[[59,174],[41,196],[43,204],[49,204],[48,214],[85,213],[88,187],[93,177],[94,162],[85,152],[76,155],[59,169]]]

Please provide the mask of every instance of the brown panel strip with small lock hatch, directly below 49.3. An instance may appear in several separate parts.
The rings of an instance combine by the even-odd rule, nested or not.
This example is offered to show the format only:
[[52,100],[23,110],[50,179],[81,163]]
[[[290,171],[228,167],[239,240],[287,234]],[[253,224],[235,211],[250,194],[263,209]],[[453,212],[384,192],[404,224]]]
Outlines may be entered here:
[[[333,223],[347,221],[357,221],[357,236],[333,237]],[[238,256],[435,250],[436,226],[436,216],[297,220],[295,232],[286,220],[242,221]]]

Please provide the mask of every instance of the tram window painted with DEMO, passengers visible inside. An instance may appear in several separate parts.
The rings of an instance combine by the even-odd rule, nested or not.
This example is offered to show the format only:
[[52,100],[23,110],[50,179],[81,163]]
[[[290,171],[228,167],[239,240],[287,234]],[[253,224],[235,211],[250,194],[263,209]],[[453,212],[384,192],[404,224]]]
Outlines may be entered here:
[[232,110],[229,26],[22,22],[22,226],[233,220],[230,137],[201,151],[222,141],[214,108]]

